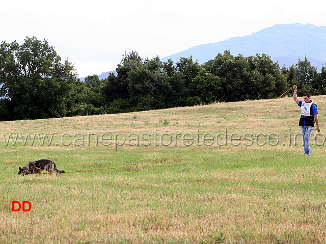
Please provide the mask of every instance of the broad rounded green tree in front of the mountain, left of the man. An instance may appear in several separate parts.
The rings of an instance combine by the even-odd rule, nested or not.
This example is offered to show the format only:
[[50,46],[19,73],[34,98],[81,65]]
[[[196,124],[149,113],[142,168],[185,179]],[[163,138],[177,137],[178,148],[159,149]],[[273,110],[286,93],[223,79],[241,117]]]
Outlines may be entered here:
[[273,98],[287,87],[286,75],[264,54],[246,58],[226,50],[203,67],[221,78],[224,101]]

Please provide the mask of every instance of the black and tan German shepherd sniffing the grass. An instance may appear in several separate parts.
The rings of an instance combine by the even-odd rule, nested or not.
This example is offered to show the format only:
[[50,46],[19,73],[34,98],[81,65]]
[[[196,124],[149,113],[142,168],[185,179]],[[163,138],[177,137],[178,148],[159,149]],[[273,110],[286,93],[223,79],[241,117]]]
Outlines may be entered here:
[[58,170],[56,167],[56,164],[48,159],[41,159],[37,161],[30,161],[27,165],[20,168],[18,175],[28,175],[28,174],[35,174],[39,173],[39,175],[42,175],[42,170],[46,170],[47,172],[51,174],[62,174],[65,173],[63,170]]

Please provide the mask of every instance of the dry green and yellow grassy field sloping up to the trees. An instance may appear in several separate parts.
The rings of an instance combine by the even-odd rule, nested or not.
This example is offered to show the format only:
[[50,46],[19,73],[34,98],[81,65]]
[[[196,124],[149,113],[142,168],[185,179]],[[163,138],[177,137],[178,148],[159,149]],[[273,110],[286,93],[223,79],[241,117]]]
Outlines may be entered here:
[[[271,100],[0,122],[0,242],[326,243],[326,96],[313,100],[309,157],[287,97],[227,133]],[[145,166],[17,177],[41,158],[66,172],[143,164],[219,133]]]

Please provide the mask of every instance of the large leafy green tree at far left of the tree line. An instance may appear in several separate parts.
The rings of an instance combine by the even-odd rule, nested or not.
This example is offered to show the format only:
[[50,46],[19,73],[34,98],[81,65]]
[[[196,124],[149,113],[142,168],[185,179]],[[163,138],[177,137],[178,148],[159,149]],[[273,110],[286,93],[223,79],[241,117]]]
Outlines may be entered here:
[[26,37],[3,41],[0,46],[0,89],[2,106],[10,113],[2,120],[40,119],[65,116],[73,82],[74,67],[47,40]]

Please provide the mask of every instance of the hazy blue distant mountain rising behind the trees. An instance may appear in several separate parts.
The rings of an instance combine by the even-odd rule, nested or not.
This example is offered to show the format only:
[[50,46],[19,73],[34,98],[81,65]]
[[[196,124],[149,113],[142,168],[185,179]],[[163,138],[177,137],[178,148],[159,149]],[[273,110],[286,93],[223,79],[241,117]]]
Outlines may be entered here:
[[233,55],[243,56],[265,53],[271,59],[289,67],[297,63],[298,58],[307,56],[313,66],[320,71],[326,62],[326,26],[313,24],[276,24],[248,36],[233,37],[224,41],[202,44],[188,48],[161,60],[172,59],[174,62],[181,57],[193,56],[200,64],[212,60],[230,50]]

